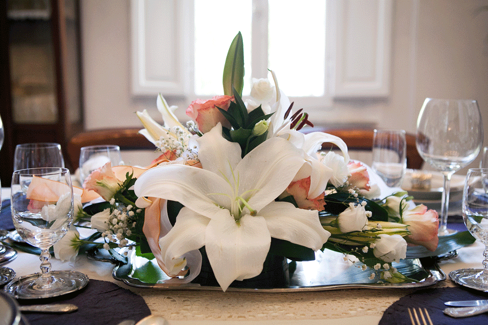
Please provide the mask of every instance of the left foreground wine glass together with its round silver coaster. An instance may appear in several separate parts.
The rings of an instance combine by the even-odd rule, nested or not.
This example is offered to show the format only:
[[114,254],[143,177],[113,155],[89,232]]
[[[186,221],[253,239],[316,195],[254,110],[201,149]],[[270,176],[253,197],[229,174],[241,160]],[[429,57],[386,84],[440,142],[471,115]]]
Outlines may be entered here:
[[[29,184],[24,191],[23,183]],[[49,248],[68,231],[73,221],[73,188],[66,168],[32,168],[13,172],[12,219],[17,233],[41,249],[41,273],[17,278],[7,291],[17,298],[44,298],[77,290],[80,274],[51,271]],[[81,278],[86,277],[82,275]]]

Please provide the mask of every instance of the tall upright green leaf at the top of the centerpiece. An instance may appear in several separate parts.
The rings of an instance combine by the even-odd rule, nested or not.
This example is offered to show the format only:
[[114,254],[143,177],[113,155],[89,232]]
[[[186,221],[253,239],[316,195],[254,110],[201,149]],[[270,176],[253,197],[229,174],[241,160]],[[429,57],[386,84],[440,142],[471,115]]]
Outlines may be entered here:
[[244,45],[240,32],[234,37],[227,53],[226,64],[223,67],[223,93],[232,96],[232,88],[235,88],[239,96],[244,87]]

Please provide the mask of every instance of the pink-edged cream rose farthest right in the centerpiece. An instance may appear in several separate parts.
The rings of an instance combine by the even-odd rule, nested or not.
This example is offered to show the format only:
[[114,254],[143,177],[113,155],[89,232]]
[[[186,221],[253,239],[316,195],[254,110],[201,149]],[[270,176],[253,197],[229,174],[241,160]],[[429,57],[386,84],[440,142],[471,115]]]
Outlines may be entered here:
[[402,219],[402,223],[408,225],[408,230],[411,232],[411,235],[405,238],[407,242],[422,245],[432,252],[437,249],[439,215],[435,210],[427,210],[427,207],[421,204],[414,209],[404,211]]

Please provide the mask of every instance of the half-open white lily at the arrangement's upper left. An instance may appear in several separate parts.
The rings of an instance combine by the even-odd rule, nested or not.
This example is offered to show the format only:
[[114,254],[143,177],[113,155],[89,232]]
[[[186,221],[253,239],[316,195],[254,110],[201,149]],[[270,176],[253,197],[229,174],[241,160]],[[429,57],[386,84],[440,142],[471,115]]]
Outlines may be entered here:
[[[185,136],[183,136],[183,145],[187,146],[191,133],[180,123],[176,115],[173,113],[173,111],[178,107],[168,106],[166,100],[161,94],[158,95],[156,105],[158,107],[158,111],[161,113],[164,125],[161,126],[159,123],[157,123],[151,117],[151,115],[149,115],[147,110],[143,110],[142,112],[138,111],[136,114],[144,126],[144,129],[140,130],[139,133],[144,135],[146,139],[151,141],[151,143],[153,143],[156,147],[159,147],[159,141],[161,138],[171,140],[179,139],[179,136],[175,133],[175,128],[179,128],[185,133]],[[160,149],[163,151],[164,148]]]

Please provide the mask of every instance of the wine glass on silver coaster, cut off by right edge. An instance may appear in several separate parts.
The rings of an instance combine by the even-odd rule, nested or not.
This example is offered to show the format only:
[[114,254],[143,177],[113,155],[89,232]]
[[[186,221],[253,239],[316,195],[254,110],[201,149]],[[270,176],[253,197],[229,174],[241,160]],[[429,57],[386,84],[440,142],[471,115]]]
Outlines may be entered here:
[[488,169],[470,169],[464,182],[462,211],[467,230],[485,246],[483,269],[449,273],[460,285],[488,291]]

